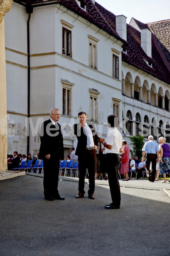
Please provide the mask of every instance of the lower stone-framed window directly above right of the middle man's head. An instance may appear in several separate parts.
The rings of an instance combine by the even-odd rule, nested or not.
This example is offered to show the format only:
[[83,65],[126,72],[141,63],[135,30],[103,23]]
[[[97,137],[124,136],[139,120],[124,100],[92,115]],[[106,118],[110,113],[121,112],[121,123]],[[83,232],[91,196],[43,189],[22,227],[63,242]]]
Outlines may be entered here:
[[98,122],[98,95],[99,92],[89,89],[90,93],[90,120]]

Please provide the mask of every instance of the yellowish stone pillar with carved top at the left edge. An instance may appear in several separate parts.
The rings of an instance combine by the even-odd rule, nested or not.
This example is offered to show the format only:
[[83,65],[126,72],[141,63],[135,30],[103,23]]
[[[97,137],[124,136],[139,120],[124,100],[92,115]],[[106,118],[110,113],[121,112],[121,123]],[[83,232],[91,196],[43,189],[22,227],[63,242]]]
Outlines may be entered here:
[[11,9],[13,0],[0,0],[0,172],[7,170],[7,107],[6,107],[6,56],[4,15]]

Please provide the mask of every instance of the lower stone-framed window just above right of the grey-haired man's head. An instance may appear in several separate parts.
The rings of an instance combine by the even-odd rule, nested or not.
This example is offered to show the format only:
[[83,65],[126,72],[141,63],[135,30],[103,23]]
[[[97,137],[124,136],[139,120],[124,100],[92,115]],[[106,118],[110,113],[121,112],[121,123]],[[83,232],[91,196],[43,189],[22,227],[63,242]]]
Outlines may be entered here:
[[72,116],[72,87],[74,84],[68,81],[62,82],[62,114]]

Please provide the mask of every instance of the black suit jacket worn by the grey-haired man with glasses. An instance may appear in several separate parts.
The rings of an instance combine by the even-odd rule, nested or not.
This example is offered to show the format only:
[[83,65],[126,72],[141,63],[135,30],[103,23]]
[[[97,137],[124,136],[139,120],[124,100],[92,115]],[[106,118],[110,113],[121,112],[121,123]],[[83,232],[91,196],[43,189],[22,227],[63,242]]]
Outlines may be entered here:
[[59,159],[64,159],[63,138],[59,123],[55,126],[50,119],[43,122],[40,132],[40,140],[40,159],[44,159],[47,154],[50,154],[51,157],[54,158],[59,157]]

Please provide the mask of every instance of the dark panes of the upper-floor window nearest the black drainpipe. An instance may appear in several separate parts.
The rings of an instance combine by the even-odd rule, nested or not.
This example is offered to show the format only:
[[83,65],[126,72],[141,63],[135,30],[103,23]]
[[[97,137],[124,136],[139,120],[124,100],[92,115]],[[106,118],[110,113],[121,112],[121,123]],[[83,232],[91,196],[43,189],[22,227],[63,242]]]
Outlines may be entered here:
[[62,28],[62,54],[71,57],[71,31]]

